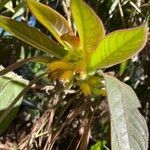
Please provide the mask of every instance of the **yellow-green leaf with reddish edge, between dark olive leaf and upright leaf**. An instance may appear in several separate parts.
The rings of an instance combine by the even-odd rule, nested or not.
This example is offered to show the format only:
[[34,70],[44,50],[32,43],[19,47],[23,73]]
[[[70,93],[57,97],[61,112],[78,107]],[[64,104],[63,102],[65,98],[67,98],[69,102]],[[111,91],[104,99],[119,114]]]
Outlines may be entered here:
[[37,20],[43,24],[61,44],[64,45],[60,36],[72,32],[66,19],[52,8],[36,2],[35,0],[27,0],[27,4]]

